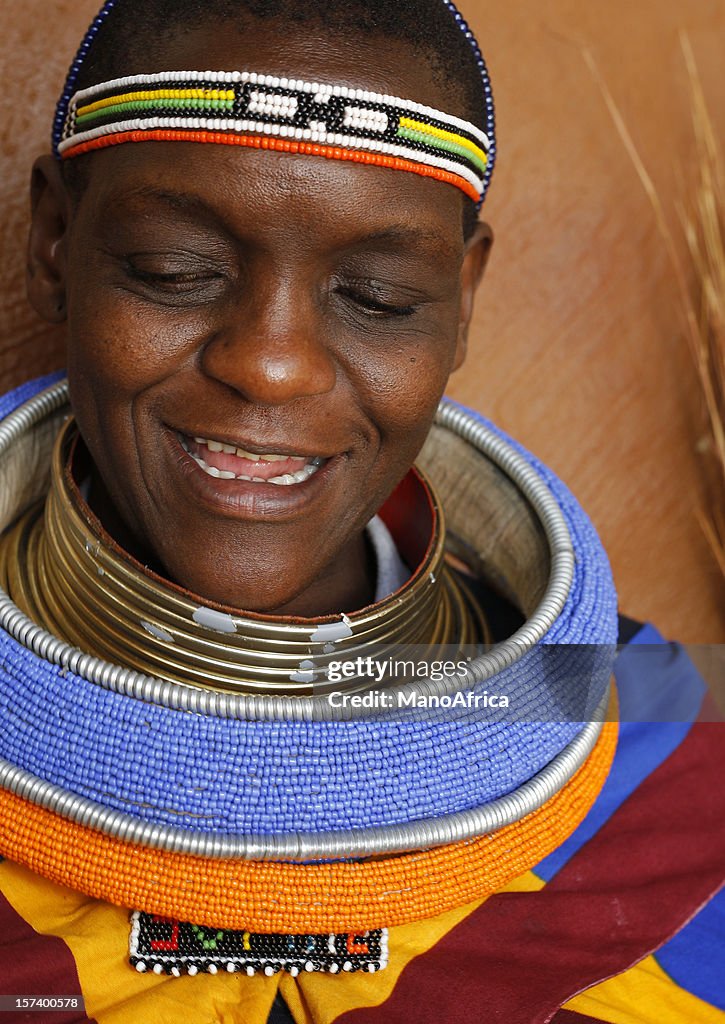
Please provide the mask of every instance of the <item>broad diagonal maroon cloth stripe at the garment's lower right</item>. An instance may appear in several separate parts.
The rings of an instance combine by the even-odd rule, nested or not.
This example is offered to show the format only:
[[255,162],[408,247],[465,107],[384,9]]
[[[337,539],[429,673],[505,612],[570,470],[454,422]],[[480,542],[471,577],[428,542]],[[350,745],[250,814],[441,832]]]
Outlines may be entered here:
[[492,897],[382,1006],[337,1024],[563,1024],[562,1004],[657,949],[725,881],[725,785],[702,784],[724,748],[721,724],[696,723],[543,890]]

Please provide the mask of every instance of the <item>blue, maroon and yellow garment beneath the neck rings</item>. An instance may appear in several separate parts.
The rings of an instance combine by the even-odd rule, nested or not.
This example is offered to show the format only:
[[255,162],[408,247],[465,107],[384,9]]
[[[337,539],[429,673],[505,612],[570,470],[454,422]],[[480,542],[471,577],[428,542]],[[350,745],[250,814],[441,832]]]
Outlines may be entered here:
[[[83,993],[85,1014],[3,1021],[725,1022],[725,732],[706,720],[705,687],[682,648],[628,621],[623,639],[620,745],[583,824],[497,895],[389,929],[384,970],[139,974],[129,911],[5,861],[0,993]],[[184,926],[157,925],[173,953]],[[380,936],[369,938],[380,952]],[[359,951],[366,937],[347,941]]]

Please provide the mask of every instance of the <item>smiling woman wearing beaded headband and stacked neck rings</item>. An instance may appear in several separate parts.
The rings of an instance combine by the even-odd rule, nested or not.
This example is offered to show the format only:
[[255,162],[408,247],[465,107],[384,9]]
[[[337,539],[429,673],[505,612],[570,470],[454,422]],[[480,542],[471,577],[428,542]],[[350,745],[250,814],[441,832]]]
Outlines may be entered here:
[[[182,987],[200,1020],[265,1020],[278,987],[298,1020],[391,992],[386,1020],[453,1020],[457,961],[481,1013],[558,1016],[721,871],[697,848],[663,911],[634,844],[615,896],[594,893],[591,851],[619,849],[607,819],[637,776],[622,748],[595,803],[616,732],[606,559],[507,438],[450,408],[431,430],[492,239],[491,87],[461,15],[108,3],[54,144],[34,172],[30,296],[68,322],[78,434],[62,427],[42,509],[39,458],[4,523],[12,929],[62,936],[101,1021],[170,1019]],[[8,403],[8,474],[47,447],[63,398]],[[432,482],[411,471],[424,442]],[[698,682],[675,672],[690,721]],[[699,827],[715,812],[686,809]],[[549,880],[511,910],[487,899]],[[486,936],[506,928],[497,988]],[[531,970],[550,946],[555,977]],[[38,948],[25,963],[48,985]]]

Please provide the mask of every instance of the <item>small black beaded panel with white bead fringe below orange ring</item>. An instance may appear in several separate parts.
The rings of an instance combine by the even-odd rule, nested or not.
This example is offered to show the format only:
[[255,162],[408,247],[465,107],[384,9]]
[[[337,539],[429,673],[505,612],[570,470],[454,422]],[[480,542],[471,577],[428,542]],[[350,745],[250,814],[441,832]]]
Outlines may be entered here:
[[323,935],[264,935],[216,929],[136,910],[131,915],[129,961],[140,974],[239,972],[271,977],[285,971],[374,974],[388,963],[388,930]]

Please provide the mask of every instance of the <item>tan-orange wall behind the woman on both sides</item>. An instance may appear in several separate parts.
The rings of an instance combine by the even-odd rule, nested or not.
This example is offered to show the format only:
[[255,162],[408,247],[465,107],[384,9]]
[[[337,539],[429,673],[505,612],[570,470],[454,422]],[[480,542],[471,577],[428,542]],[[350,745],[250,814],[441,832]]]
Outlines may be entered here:
[[[25,300],[27,179],[97,0],[0,11],[0,385],[62,365]],[[702,420],[674,279],[647,199],[582,56],[588,46],[672,211],[693,181],[689,34],[725,137],[723,0],[468,0],[489,62],[497,242],[471,353],[452,381],[547,461],[594,519],[621,606],[691,642],[725,640],[725,589],[695,519]]]

